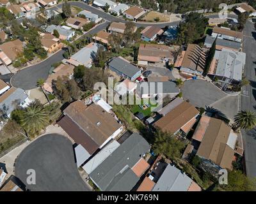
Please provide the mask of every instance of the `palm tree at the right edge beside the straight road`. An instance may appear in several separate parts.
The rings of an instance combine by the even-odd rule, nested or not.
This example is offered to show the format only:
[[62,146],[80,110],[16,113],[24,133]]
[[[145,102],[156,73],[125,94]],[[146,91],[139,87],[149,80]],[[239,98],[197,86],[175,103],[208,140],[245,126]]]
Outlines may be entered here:
[[242,110],[234,117],[234,121],[235,129],[252,129],[256,126],[256,114],[252,111]]

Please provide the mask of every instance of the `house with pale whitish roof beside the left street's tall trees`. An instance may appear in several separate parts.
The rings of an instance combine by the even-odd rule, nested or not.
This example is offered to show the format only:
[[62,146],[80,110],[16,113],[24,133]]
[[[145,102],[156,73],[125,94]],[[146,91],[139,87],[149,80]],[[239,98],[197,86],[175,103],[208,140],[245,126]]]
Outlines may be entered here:
[[76,54],[72,55],[67,62],[74,66],[84,65],[86,68],[91,68],[93,59],[95,58],[99,47],[102,47],[102,45],[98,43],[90,43],[76,52]]

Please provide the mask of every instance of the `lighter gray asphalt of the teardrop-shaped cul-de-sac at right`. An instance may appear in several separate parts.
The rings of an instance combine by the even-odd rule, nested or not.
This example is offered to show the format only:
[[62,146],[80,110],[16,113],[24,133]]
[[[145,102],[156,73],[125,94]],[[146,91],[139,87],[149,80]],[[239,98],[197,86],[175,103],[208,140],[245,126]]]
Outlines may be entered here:
[[181,90],[184,99],[189,99],[191,104],[203,108],[226,96],[211,82],[200,79],[187,80]]

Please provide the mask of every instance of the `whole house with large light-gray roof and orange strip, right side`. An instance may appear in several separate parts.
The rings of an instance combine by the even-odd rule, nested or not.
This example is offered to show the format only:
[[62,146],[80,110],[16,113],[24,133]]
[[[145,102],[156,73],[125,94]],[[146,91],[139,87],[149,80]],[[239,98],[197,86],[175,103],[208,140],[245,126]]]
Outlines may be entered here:
[[227,48],[216,50],[212,60],[209,77],[218,78],[228,84],[239,84],[243,77],[243,68],[246,61],[244,52],[237,52]]

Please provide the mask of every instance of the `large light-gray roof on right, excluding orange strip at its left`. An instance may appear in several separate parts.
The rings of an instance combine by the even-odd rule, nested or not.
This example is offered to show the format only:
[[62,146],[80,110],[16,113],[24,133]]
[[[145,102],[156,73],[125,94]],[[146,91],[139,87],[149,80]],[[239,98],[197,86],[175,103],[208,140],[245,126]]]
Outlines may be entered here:
[[216,55],[219,56],[215,75],[241,81],[246,54],[224,48],[222,51],[216,52]]

